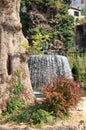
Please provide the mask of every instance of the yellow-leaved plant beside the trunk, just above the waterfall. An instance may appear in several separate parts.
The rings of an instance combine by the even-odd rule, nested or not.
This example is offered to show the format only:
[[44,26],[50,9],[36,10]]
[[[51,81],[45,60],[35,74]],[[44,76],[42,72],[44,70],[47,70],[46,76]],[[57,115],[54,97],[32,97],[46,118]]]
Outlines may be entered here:
[[28,41],[29,43],[22,43],[26,53],[29,55],[42,54],[42,51],[47,50],[50,45],[50,36],[45,29],[29,29]]

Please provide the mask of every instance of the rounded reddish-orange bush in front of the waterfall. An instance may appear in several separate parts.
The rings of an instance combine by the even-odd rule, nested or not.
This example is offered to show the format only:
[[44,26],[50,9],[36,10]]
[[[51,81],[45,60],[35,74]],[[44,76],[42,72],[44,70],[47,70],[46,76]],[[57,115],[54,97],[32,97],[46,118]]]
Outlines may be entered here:
[[56,78],[44,86],[43,94],[46,98],[44,101],[46,109],[61,117],[77,105],[81,90],[80,85],[73,80]]

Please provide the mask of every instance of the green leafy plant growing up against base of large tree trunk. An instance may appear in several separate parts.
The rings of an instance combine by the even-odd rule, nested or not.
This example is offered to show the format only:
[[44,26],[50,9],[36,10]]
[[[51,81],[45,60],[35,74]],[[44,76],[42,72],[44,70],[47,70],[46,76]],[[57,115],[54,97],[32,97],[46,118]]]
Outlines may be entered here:
[[24,85],[21,82],[21,73],[19,70],[16,71],[17,83],[14,85],[13,95],[10,95],[7,104],[7,113],[11,114],[18,112],[20,108],[24,106],[24,103],[21,101],[20,94],[24,89]]

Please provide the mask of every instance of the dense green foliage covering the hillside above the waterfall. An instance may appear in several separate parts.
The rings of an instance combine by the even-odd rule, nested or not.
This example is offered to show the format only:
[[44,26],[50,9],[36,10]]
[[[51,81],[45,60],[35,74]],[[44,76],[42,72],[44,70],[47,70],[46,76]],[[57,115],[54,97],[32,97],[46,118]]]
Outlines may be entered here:
[[[68,14],[69,3],[70,0],[21,0],[20,16],[24,35],[29,41],[28,52],[30,54],[49,50],[50,46],[54,44],[55,39],[62,41],[65,48],[72,46],[74,19]],[[42,25],[40,27],[33,27],[33,25],[29,24],[30,19],[28,14],[33,9],[38,10],[41,14],[46,14],[51,8],[53,18],[46,19],[48,28]],[[56,14],[54,14],[55,10]],[[52,24],[50,21],[52,21]]]

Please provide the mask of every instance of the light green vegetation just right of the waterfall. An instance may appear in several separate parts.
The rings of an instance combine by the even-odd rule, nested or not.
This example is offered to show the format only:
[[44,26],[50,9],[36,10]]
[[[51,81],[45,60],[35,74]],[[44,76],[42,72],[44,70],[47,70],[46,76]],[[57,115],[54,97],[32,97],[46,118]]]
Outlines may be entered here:
[[83,86],[86,86],[86,54],[75,52],[72,55],[67,54],[68,61],[70,63],[71,69],[75,69],[75,80],[79,83],[83,83]]

